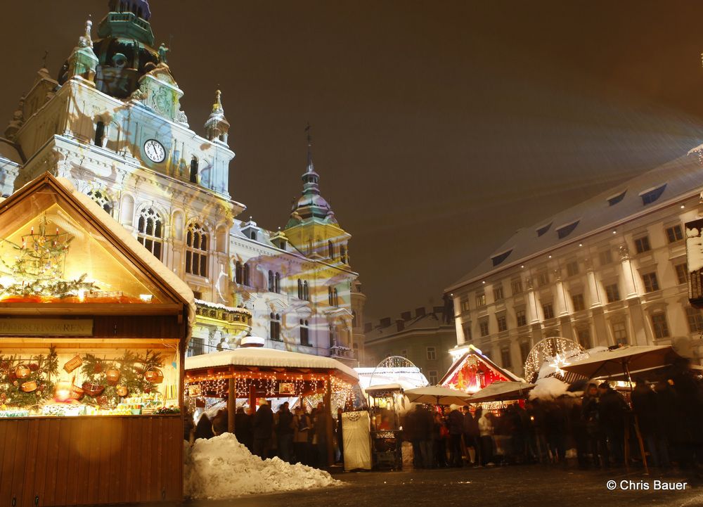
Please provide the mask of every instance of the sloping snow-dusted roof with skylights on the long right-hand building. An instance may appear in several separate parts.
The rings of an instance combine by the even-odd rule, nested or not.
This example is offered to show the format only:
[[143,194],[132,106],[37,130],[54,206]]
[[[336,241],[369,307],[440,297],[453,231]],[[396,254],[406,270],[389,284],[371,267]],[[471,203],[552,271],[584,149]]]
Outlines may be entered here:
[[703,189],[702,148],[703,145],[688,155],[624,181],[533,226],[519,229],[447,290],[520,264],[527,257],[575,243],[640,213],[669,205],[684,195],[698,193]]

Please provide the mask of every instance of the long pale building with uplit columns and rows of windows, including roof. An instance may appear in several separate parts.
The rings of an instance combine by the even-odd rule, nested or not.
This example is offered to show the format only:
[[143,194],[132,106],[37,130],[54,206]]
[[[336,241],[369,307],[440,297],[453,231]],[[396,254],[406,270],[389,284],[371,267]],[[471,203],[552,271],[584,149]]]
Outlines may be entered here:
[[700,148],[517,231],[446,288],[457,349],[522,375],[531,347],[668,345],[699,363],[703,316],[688,302],[684,224],[703,214]]

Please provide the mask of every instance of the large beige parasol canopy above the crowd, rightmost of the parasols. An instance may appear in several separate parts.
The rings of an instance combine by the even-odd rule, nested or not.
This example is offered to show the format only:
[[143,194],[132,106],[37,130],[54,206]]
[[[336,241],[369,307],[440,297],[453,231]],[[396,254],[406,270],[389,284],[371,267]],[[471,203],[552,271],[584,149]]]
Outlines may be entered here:
[[635,345],[590,354],[586,359],[561,366],[587,378],[614,377],[673,364],[681,356],[671,345]]

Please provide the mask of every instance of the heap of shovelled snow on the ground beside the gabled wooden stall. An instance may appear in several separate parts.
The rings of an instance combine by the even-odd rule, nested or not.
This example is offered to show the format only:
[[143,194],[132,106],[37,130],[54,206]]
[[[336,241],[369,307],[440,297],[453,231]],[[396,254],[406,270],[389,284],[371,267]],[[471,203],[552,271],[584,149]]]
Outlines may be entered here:
[[184,494],[193,499],[228,499],[342,484],[317,468],[291,465],[279,458],[262,460],[231,433],[196,440],[193,447],[186,447],[185,461]]

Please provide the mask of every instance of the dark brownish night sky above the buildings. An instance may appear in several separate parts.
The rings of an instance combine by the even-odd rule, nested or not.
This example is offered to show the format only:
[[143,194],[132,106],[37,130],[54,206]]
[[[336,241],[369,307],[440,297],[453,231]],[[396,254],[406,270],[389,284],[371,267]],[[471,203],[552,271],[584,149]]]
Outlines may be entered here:
[[[107,4],[3,6],[1,129]],[[240,218],[285,225],[312,124],[367,319],[441,304],[515,229],[703,142],[698,2],[150,4],[199,134],[222,90]]]

